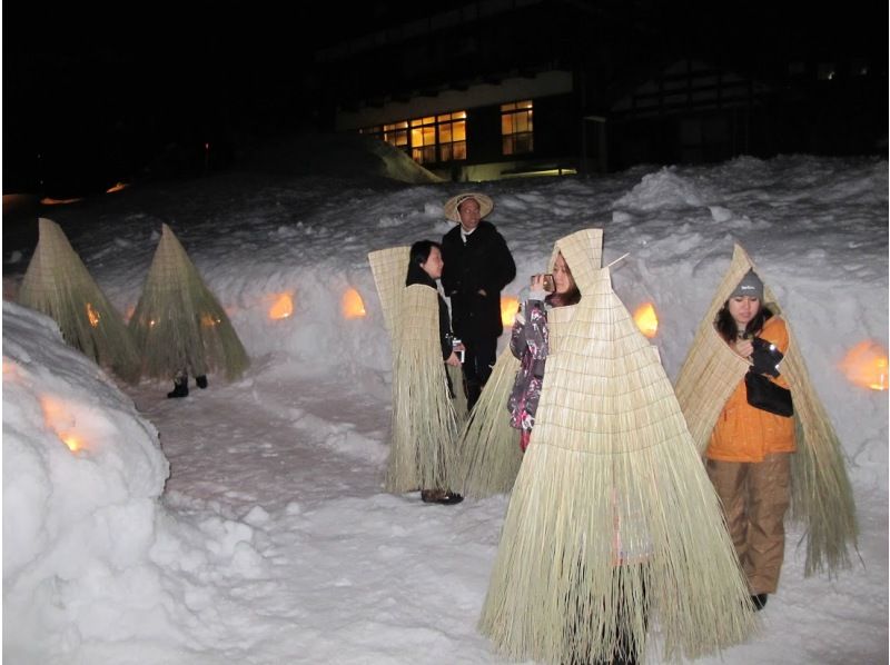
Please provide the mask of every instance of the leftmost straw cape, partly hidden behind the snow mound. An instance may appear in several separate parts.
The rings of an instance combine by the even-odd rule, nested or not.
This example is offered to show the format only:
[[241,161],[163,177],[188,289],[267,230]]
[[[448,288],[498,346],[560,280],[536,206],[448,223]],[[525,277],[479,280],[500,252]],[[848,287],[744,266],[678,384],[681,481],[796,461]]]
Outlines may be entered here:
[[139,380],[139,356],[120,315],[92,279],[62,229],[40,218],[40,236],[18,301],[52,318],[70,346],[120,378]]

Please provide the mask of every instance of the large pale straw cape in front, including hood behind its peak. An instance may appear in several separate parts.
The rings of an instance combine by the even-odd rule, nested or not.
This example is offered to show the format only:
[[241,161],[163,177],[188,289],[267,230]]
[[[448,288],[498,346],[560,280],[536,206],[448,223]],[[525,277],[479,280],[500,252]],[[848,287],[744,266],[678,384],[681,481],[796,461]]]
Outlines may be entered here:
[[479,629],[513,658],[663,659],[756,626],[720,505],[670,380],[600,269],[602,231],[556,242],[582,299],[547,314],[550,356]]

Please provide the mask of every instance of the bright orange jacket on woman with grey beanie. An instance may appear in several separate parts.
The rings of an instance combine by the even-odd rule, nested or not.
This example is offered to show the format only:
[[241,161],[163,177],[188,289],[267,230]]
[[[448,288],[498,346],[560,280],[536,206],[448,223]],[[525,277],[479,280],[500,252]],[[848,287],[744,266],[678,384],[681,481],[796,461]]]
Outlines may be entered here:
[[[788,328],[778,316],[767,320],[758,337],[773,343],[783,354],[788,350]],[[784,377],[773,380],[788,388]],[[794,449],[794,418],[749,405],[742,379],[723,406],[705,457],[721,461],[763,461],[771,453],[793,453]]]

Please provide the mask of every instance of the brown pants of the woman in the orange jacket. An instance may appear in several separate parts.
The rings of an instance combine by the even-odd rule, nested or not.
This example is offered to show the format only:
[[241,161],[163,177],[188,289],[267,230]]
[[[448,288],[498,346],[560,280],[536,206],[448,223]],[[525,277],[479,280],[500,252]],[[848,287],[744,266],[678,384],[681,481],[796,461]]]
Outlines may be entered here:
[[791,502],[789,453],[767,455],[763,461],[709,459],[706,466],[751,593],[774,593]]

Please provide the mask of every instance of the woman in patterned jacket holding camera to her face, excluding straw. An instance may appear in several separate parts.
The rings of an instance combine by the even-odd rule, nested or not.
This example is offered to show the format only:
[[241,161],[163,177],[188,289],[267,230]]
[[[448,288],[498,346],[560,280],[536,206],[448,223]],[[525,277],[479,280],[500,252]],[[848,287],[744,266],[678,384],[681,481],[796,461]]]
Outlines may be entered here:
[[553,275],[533,275],[528,298],[516,315],[510,337],[510,350],[520,360],[520,370],[507,401],[512,427],[520,429],[523,453],[528,447],[535,411],[544,380],[544,365],[550,351],[547,344],[547,310],[575,305],[581,291],[562,254],[556,255]]

